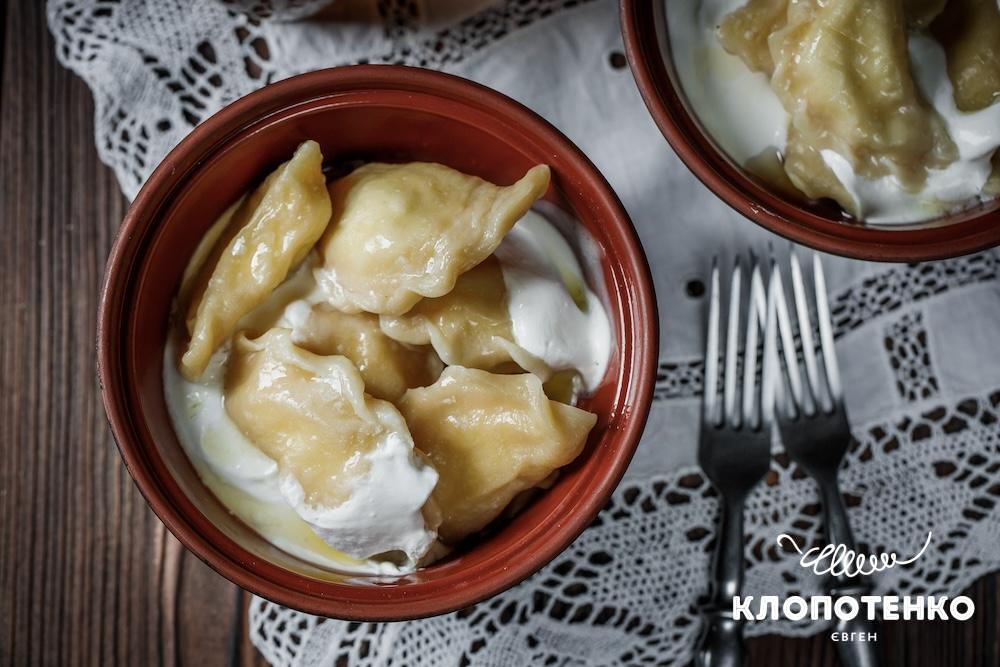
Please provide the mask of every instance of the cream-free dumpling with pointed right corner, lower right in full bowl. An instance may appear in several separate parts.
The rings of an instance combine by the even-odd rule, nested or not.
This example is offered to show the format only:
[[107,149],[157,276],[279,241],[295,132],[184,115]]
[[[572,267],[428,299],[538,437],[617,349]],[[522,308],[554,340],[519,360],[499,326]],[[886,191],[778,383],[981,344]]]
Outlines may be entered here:
[[418,449],[440,479],[438,528],[450,544],[499,515],[521,491],[579,455],[597,417],[550,401],[534,375],[449,366],[399,403]]

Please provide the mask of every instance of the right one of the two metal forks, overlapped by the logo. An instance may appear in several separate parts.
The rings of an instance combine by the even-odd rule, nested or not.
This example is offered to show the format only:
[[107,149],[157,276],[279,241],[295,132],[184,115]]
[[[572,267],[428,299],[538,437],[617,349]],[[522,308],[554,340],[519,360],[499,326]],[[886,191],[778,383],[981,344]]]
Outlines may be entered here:
[[[792,318],[785,300],[781,270],[771,263],[771,284],[774,285],[774,310],[778,319],[780,347],[784,364],[784,382],[776,387],[775,420],[781,440],[789,456],[816,481],[822,499],[826,534],[831,544],[843,544],[856,550],[854,535],[847,519],[847,511],[837,482],[837,471],[847,453],[851,431],[844,407],[840,370],[833,344],[833,327],[826,295],[826,278],[819,255],[813,255],[813,291],[816,309],[816,326],[819,331],[821,356],[817,359],[813,338],[813,318],[798,257],[790,257],[792,295],[801,341],[802,365],[805,382],[800,375],[800,364],[794,342]],[[775,344],[778,341],[775,340]],[[849,595],[860,597],[871,593],[871,582],[864,577],[848,579],[844,576],[830,578],[827,588],[834,598]],[[863,607],[862,607],[863,608]],[[867,641],[869,634],[877,631],[874,622],[857,616],[850,621],[838,621],[838,632],[863,632],[862,641],[837,643],[840,662],[845,667],[874,667],[881,664],[877,652]]]

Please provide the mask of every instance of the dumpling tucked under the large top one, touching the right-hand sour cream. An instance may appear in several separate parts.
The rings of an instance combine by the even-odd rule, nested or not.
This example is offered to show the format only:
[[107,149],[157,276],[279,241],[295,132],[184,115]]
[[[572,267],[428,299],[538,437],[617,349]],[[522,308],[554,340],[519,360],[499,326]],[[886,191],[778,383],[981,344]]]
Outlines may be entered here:
[[381,325],[398,341],[433,345],[449,365],[549,374],[544,363],[514,342],[503,271],[493,256],[459,276],[444,296],[422,299],[403,315],[383,315]]

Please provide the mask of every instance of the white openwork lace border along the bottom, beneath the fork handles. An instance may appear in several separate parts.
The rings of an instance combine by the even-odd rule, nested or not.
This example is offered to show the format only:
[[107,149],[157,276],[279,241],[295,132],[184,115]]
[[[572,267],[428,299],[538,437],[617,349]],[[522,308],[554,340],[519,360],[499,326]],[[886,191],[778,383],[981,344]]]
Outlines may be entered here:
[[[985,547],[1000,539],[991,512],[1000,498],[998,416],[1000,389],[855,429],[842,484],[861,548],[916,552],[921,531],[936,535],[913,566],[882,574],[878,593],[947,594],[1000,564]],[[986,455],[969,454],[982,450],[992,465]],[[941,486],[951,502],[934,502]],[[887,494],[908,502],[886,512]],[[302,664],[495,665],[516,656],[530,660],[516,664],[680,665],[697,638],[715,514],[716,493],[695,470],[632,480],[553,563],[470,609],[416,622],[348,623],[256,598],[250,627],[274,664],[299,664],[308,654]],[[800,544],[823,541],[813,483],[785,455],[775,457],[767,483],[748,499],[746,523],[746,594],[820,592],[817,577],[775,543],[781,533]],[[819,627],[767,620],[747,633],[805,635]]]

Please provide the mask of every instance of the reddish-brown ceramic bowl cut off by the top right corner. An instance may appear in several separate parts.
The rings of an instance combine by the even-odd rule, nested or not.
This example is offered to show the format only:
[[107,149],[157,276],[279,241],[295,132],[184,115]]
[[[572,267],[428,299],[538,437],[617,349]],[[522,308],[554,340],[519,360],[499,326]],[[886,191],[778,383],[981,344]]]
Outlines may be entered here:
[[702,129],[672,64],[665,2],[621,0],[625,50],[653,120],[684,164],[712,192],[757,224],[826,252],[878,261],[923,261],[1000,244],[1000,202],[901,226],[845,220],[833,205],[783,198],[734,164]]

